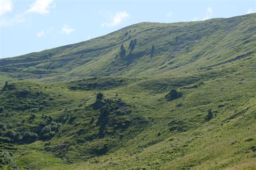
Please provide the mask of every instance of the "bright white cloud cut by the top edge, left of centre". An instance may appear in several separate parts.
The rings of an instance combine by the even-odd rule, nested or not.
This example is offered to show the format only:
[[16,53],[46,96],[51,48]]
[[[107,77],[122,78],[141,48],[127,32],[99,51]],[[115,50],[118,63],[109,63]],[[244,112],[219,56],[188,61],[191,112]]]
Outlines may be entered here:
[[50,8],[54,8],[55,4],[53,4],[53,0],[36,0],[36,2],[30,5],[30,9],[26,11],[35,12],[40,14],[50,13]]

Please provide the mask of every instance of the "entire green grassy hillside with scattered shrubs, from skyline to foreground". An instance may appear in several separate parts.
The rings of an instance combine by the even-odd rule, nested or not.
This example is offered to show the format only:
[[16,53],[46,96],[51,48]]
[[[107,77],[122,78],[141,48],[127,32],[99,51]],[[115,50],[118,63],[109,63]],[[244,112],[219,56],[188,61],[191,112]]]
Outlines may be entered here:
[[139,23],[0,59],[0,164],[255,168],[255,17]]

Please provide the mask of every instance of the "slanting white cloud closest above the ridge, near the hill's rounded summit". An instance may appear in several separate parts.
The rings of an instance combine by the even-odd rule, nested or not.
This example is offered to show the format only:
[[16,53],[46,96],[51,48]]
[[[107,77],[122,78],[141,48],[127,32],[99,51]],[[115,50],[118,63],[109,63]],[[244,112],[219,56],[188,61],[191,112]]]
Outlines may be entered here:
[[101,26],[117,26],[129,17],[130,15],[126,11],[117,12],[108,22],[103,23]]

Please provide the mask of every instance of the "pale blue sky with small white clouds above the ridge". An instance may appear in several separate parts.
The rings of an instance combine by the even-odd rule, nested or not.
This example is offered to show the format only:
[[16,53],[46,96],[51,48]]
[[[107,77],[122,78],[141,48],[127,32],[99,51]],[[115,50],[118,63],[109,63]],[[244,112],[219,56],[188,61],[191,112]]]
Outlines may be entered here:
[[256,0],[0,0],[0,58],[89,40],[140,22],[228,18],[255,9]]

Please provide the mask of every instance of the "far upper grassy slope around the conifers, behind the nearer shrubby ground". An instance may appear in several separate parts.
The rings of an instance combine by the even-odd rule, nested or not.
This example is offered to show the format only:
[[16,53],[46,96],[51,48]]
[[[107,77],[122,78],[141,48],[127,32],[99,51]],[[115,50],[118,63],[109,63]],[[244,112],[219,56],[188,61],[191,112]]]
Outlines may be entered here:
[[[0,60],[20,77],[176,75],[255,52],[255,13],[188,23],[139,23],[78,44]],[[129,44],[136,41],[134,49]],[[124,45],[126,54],[119,55]],[[151,48],[154,52],[151,55]],[[131,52],[131,53],[130,53]]]

